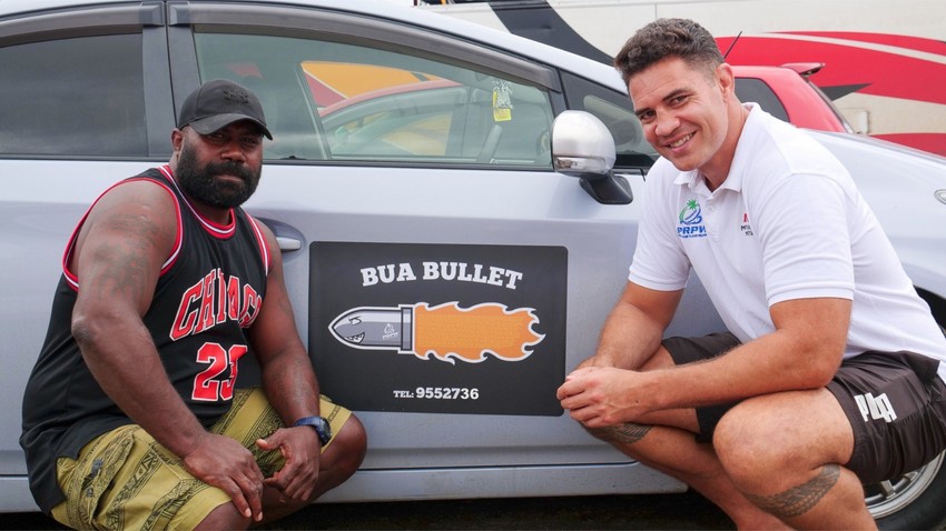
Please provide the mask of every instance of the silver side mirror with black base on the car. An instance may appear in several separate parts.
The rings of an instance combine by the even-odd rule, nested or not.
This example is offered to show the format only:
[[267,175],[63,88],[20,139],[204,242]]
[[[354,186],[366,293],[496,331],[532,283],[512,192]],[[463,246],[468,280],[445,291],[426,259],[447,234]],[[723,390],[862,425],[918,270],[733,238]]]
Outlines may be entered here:
[[627,204],[633,197],[628,182],[611,174],[617,159],[614,138],[604,123],[585,111],[564,111],[552,122],[552,167],[581,179],[597,201]]

